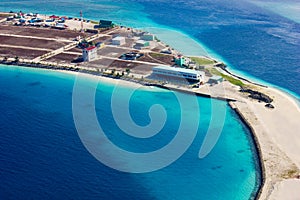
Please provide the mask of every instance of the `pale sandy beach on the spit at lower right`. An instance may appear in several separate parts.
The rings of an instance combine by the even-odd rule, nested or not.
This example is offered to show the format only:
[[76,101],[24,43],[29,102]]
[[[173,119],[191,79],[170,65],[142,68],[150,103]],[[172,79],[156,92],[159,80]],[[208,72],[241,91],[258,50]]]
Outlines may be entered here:
[[295,101],[273,88],[261,88],[270,95],[275,109],[265,108],[249,98],[232,103],[253,128],[264,163],[265,184],[260,199],[299,199],[300,110]]

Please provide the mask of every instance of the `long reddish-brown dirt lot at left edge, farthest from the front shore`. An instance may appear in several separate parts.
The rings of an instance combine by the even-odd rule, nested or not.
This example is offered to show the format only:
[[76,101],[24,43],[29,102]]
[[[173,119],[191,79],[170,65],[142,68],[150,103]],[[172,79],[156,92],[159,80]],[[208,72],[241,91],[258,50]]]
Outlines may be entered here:
[[26,35],[35,37],[47,37],[47,38],[63,38],[73,40],[78,35],[81,37],[88,37],[91,33],[80,33],[71,30],[57,30],[51,28],[38,28],[28,26],[12,26],[12,25],[0,25],[0,33]]

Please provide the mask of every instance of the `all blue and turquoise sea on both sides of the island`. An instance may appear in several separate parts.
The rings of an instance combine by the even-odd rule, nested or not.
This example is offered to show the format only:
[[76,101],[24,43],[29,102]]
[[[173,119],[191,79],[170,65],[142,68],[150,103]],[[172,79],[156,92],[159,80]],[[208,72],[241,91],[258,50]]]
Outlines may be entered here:
[[[288,2],[296,6],[296,1]],[[0,10],[38,12],[89,19],[149,30],[187,55],[222,60],[230,69],[295,97],[299,84],[299,21],[286,2],[251,1],[2,1]],[[277,6],[277,7],[276,7]],[[287,8],[288,9],[288,8]],[[293,11],[293,10],[292,10]],[[288,13],[288,14],[287,14]],[[284,70],[282,70],[284,68]],[[286,78],[289,77],[289,78]],[[87,87],[89,81],[86,80]],[[224,101],[197,97],[200,120],[188,150],[158,171],[133,174],[111,169],[82,144],[72,115],[76,76],[41,69],[0,66],[1,199],[252,199],[261,184],[251,133]],[[123,149],[148,152],[168,144],[180,122],[173,92],[141,87],[130,100],[132,119],[145,126],[148,110],[162,105],[168,118],[148,140],[130,137],[117,126],[110,109],[115,86],[97,82],[95,110],[99,123]],[[130,88],[121,87],[126,93]],[[189,95],[187,100],[192,98]],[[122,100],[121,100],[122,101]],[[122,103],[122,102],[120,102]],[[211,124],[215,105],[225,112]],[[91,105],[82,105],[82,109]],[[108,109],[109,108],[109,109]],[[185,111],[187,118],[194,108]],[[193,119],[191,124],[195,123]],[[219,123],[218,123],[219,121]],[[198,157],[208,129],[223,126],[219,140]],[[89,126],[87,131],[92,134]],[[104,149],[109,151],[109,149]]]

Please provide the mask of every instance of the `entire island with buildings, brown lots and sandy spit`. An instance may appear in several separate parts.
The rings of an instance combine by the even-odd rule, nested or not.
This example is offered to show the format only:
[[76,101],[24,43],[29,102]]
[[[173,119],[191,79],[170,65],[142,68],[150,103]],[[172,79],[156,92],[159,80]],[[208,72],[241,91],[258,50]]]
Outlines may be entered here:
[[143,30],[102,19],[0,13],[0,63],[87,73],[228,101],[251,130],[263,183],[258,199],[300,196],[300,109],[276,88],[188,56]]

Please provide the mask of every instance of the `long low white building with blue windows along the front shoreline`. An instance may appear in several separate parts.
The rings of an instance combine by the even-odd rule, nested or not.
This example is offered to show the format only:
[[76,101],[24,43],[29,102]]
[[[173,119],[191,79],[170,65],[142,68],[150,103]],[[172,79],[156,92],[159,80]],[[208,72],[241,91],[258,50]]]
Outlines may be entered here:
[[177,68],[177,67],[169,67],[169,66],[158,66],[153,67],[153,74],[156,75],[164,75],[164,76],[171,76],[175,78],[184,78],[199,82],[204,82],[205,73],[201,71],[191,70],[191,69],[184,69],[184,68]]

